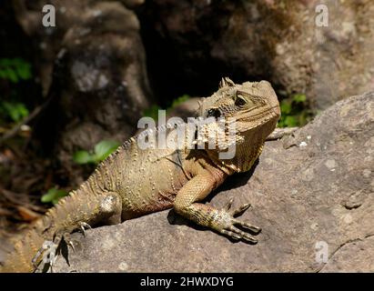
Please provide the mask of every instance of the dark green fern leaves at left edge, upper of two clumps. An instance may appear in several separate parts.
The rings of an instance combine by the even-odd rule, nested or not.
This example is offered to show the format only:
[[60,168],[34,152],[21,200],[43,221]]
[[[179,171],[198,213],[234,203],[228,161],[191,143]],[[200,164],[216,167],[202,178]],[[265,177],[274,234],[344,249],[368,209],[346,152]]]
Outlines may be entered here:
[[32,77],[31,65],[22,58],[0,58],[0,78],[18,83]]

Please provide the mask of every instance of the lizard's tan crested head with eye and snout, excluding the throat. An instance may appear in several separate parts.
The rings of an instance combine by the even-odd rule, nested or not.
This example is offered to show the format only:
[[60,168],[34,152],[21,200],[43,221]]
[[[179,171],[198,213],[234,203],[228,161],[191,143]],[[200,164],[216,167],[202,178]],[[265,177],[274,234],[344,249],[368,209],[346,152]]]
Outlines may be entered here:
[[268,136],[280,117],[278,98],[268,81],[236,85],[227,77],[222,78],[218,91],[207,97],[199,110],[205,118],[234,118],[238,134],[261,128]]

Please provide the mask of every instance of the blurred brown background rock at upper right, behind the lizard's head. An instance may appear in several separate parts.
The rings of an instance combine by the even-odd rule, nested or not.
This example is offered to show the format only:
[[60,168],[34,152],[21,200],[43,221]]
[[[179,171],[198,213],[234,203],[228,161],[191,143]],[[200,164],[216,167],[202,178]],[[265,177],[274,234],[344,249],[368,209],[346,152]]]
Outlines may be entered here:
[[140,21],[157,84],[267,79],[326,109],[374,89],[373,15],[370,0],[153,0]]

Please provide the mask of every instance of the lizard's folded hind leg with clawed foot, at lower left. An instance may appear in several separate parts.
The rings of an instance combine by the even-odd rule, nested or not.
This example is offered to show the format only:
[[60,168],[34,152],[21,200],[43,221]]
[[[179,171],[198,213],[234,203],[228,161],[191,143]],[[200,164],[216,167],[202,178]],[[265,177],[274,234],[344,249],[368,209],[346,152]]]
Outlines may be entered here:
[[74,242],[70,238],[72,232],[78,230],[85,236],[86,229],[96,223],[118,224],[121,213],[121,198],[114,192],[67,196],[45,216],[45,228],[40,229],[45,241],[32,258],[33,266],[39,270],[38,266],[43,263],[44,271],[52,271],[64,244],[74,250]]

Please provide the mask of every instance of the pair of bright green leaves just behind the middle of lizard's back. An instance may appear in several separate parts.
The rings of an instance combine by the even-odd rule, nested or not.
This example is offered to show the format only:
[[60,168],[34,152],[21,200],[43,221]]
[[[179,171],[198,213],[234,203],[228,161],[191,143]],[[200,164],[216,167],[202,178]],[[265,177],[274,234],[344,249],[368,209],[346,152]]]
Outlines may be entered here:
[[120,144],[116,141],[103,140],[95,146],[93,153],[85,150],[76,151],[73,155],[73,160],[79,165],[98,164],[106,159],[106,156],[112,154],[118,146]]

